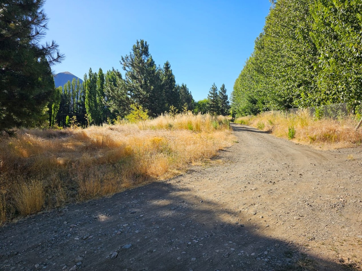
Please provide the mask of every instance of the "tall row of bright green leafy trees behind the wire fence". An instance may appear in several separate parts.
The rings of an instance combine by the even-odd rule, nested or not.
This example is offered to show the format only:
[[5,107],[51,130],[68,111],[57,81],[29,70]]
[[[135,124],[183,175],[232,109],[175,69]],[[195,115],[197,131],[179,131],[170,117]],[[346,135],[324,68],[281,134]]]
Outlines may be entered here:
[[273,1],[231,95],[237,115],[350,103],[362,95],[362,1]]

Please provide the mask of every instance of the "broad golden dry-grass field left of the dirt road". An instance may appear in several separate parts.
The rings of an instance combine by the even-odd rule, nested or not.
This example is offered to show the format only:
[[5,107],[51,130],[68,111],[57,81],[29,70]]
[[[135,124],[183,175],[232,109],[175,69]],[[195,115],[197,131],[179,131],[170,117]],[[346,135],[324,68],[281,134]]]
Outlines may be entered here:
[[172,177],[231,142],[226,118],[191,113],[87,129],[17,130],[16,138],[0,138],[0,224]]

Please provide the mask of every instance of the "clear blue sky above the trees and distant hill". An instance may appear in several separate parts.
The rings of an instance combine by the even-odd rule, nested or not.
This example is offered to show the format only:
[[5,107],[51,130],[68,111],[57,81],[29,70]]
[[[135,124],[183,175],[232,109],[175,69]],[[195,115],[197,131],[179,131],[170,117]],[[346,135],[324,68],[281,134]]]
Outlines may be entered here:
[[144,39],[156,65],[169,61],[176,83],[195,100],[213,83],[228,95],[268,15],[268,0],[47,0],[45,40],[54,39],[66,59],[53,72],[83,79],[89,68],[122,71],[121,56]]

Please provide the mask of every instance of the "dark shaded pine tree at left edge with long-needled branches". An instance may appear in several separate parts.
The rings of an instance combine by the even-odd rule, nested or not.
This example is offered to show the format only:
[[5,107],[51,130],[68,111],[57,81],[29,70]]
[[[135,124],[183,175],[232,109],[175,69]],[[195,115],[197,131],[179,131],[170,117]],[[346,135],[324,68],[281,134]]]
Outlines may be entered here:
[[47,121],[57,99],[50,65],[62,55],[40,44],[47,17],[43,0],[0,1],[0,132]]

